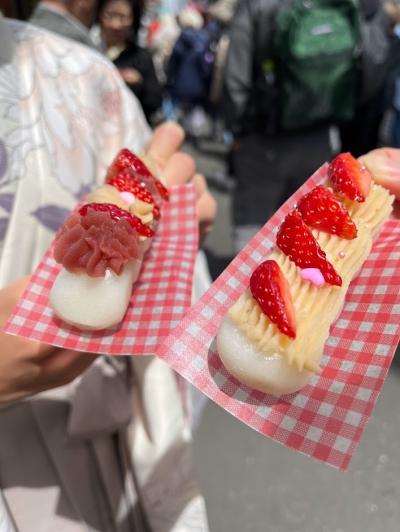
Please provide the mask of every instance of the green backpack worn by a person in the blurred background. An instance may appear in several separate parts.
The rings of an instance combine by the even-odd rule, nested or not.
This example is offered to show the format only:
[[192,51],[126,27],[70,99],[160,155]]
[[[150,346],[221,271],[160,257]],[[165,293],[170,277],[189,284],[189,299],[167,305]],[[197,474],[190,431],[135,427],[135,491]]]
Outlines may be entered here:
[[281,0],[274,46],[281,129],[352,118],[359,43],[354,0]]

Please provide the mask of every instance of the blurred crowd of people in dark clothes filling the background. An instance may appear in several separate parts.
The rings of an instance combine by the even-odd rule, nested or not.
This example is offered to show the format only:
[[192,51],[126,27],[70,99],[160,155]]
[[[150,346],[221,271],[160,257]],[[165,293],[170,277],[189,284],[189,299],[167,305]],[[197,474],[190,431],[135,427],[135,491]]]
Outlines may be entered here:
[[[292,4],[298,23],[303,3]],[[302,58],[301,42],[286,44],[291,15],[273,0],[42,0],[31,22],[104,53],[150,124],[174,120],[193,142],[224,144],[239,250],[339,149],[361,155],[382,132],[399,145],[398,4],[334,2],[333,25],[318,18],[324,3],[314,4],[304,4],[316,33]]]

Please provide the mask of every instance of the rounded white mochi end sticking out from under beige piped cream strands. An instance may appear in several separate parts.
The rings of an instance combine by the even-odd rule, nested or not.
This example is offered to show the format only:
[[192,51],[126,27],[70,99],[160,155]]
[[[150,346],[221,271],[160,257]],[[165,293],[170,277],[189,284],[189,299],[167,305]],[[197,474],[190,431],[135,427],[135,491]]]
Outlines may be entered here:
[[313,373],[299,371],[277,353],[266,355],[225,316],[217,335],[218,354],[227,371],[250,388],[275,396],[297,392]]

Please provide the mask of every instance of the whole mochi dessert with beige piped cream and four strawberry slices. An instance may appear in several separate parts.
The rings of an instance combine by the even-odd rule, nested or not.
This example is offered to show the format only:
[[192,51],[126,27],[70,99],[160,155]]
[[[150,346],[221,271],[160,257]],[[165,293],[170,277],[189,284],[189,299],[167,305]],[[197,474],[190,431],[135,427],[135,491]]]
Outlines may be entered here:
[[307,384],[392,203],[350,154],[331,162],[326,183],[286,216],[270,256],[222,322],[217,348],[232,375],[278,396]]

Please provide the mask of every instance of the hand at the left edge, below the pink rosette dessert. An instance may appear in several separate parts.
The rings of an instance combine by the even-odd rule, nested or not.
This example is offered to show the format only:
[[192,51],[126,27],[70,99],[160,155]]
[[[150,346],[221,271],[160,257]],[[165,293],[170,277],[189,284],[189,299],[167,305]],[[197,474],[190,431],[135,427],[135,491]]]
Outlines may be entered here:
[[[2,328],[22,295],[29,277],[0,290]],[[0,331],[0,404],[71,382],[96,355],[40,344]]]

